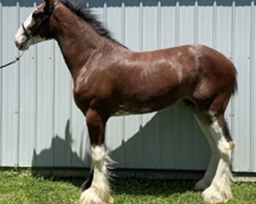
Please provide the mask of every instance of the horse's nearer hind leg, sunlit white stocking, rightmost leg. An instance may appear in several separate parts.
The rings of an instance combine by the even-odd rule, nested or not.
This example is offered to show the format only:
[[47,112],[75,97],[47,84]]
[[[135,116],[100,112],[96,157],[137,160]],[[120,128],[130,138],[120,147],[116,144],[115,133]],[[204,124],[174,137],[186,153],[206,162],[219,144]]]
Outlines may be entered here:
[[230,187],[230,161],[235,143],[231,139],[223,114],[216,115],[210,112],[212,122],[209,132],[215,142],[215,154],[218,157],[218,166],[211,185],[204,190],[204,201],[209,203],[226,202],[232,198]]

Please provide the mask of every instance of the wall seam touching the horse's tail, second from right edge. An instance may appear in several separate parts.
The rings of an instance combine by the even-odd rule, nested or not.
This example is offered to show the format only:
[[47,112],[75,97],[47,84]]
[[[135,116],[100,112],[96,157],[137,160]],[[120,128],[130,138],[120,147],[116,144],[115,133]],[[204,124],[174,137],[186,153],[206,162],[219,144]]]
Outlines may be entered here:
[[[233,64],[235,64],[236,62],[236,59],[235,59],[235,50],[236,50],[236,35],[235,35],[235,31],[236,31],[236,2],[235,0],[233,0],[233,3],[232,3],[232,32],[231,32],[231,42],[232,42],[232,45],[231,45],[231,59],[232,59],[232,62]],[[233,96],[231,98],[231,132],[232,132],[232,137],[234,140],[236,140],[236,128],[235,128],[235,125],[236,125],[236,118],[234,117],[235,116],[235,109],[236,108],[236,100],[235,100],[235,97]],[[233,153],[233,157],[232,157],[232,168],[233,170],[236,170],[236,154]]]

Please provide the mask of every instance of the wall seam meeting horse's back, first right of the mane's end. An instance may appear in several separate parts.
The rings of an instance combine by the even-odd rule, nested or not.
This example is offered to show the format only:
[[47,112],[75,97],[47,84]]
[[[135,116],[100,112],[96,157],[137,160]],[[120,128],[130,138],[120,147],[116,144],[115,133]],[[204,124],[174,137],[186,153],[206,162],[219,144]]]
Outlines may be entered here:
[[[139,11],[139,50],[143,51],[143,3],[140,2],[140,11]],[[142,154],[143,154],[143,148],[142,148],[142,124],[143,124],[143,115],[140,114],[140,129],[139,129],[139,146],[140,146],[140,152],[139,152],[139,167],[142,167],[143,161],[142,161]]]

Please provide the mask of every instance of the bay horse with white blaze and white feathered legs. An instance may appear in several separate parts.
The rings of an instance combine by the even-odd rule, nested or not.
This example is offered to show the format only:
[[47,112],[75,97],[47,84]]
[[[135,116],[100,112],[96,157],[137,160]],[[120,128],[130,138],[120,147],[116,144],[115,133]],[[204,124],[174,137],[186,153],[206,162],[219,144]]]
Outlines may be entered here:
[[114,40],[90,9],[70,0],[45,0],[15,35],[18,49],[55,39],[73,78],[73,97],[86,118],[91,173],[79,204],[112,204],[105,126],[114,115],[159,111],[182,102],[212,150],[204,177],[195,184],[208,203],[232,198],[230,159],[235,143],[224,119],[236,91],[236,68],[204,45],[136,52]]

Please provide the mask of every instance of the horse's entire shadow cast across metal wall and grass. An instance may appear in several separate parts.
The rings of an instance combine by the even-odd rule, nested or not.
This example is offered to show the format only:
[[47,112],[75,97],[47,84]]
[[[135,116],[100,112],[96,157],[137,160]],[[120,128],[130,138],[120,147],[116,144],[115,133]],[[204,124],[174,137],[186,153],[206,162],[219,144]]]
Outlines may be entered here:
[[[178,115],[182,117],[178,117]],[[145,163],[144,160],[141,159],[145,163],[143,165],[158,163],[157,159],[160,159],[161,161],[168,161],[168,164],[164,164],[164,167],[181,166],[184,169],[189,167],[198,168],[199,165],[192,164],[192,161],[198,161],[198,157],[203,155],[203,164],[199,162],[195,163],[206,167],[209,160],[209,146],[204,136],[202,136],[199,128],[191,122],[192,120],[193,116],[182,106],[175,106],[164,110],[163,112],[159,112],[146,122],[145,125],[141,126],[131,138],[113,150],[111,157],[115,161],[120,162],[120,159],[122,159],[124,164],[125,162],[128,162],[129,164],[134,164],[134,166],[136,166],[138,159],[136,149],[142,148],[141,157],[145,157],[145,161],[147,161]],[[161,130],[161,133],[163,133],[159,136],[160,141],[162,141],[161,157],[154,157],[154,155],[157,154],[157,148],[155,148],[155,142],[152,142],[154,141],[155,133],[158,131],[156,127],[157,121],[160,123],[159,131]],[[176,127],[177,124],[178,127]],[[172,130],[177,130],[179,127],[180,132],[172,132]],[[189,137],[188,133],[191,133],[187,130],[193,130],[195,133],[192,133]],[[170,134],[173,137],[170,137]],[[84,133],[81,133],[81,138],[83,137]],[[177,142],[177,145],[173,145],[176,140],[180,142]],[[142,147],[138,145],[138,141],[143,143]],[[81,139],[81,143],[82,142],[86,141]],[[64,138],[55,135],[52,137],[49,148],[41,150],[39,153],[34,150],[32,166],[40,168],[44,167],[44,170],[48,171],[48,173],[45,174],[46,176],[44,176],[47,180],[68,182],[79,189],[81,184],[87,179],[87,176],[83,176],[83,178],[81,178],[80,175],[80,177],[77,178],[70,174],[69,178],[63,178],[56,175],[54,169],[52,169],[52,171],[51,169],[47,169],[49,166],[60,166],[64,168],[65,171],[65,169],[69,170],[67,166],[76,166],[81,168],[80,170],[88,172],[88,168],[86,168],[86,166],[88,166],[88,163],[90,164],[89,150],[87,149],[82,151],[83,147],[80,146],[79,151],[76,152],[72,148],[72,143],[73,138],[72,131],[70,130],[70,120],[67,120]],[[86,143],[89,144],[88,141]],[[120,157],[122,153],[124,158]],[[151,159],[148,159],[148,156],[150,156]],[[179,159],[177,159],[177,156]],[[38,173],[39,176],[42,175],[40,174],[40,168],[39,170],[37,168],[32,168],[32,175],[38,176]],[[163,197],[167,197],[175,193],[182,194],[187,191],[192,191],[194,184],[195,181],[150,180],[149,177],[148,179],[117,178],[111,181],[111,186],[115,195],[154,195]]]

